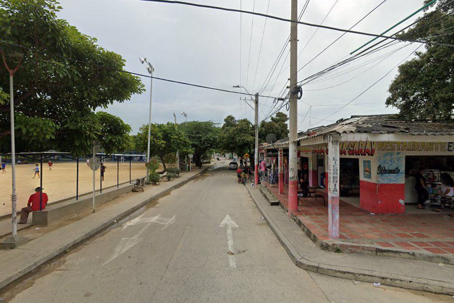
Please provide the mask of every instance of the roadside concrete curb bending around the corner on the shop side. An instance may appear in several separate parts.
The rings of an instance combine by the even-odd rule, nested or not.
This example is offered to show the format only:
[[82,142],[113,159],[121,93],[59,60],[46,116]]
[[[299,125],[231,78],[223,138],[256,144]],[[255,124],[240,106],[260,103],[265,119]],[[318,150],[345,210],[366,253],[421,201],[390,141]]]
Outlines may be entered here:
[[282,233],[277,224],[274,223],[274,221],[268,215],[266,210],[257,202],[251,190],[254,189],[248,187],[249,195],[254,201],[257,209],[263,216],[270,229],[273,231],[274,235],[279,240],[280,244],[283,246],[283,248],[286,249],[287,254],[296,266],[315,273],[337,278],[358,280],[363,282],[379,282],[383,285],[429,291],[440,294],[454,294],[454,288],[452,287],[452,285],[444,281],[427,280],[395,274],[383,274],[376,271],[318,263],[306,259],[305,257],[300,255],[298,250],[293,246],[292,242],[290,242],[286,235]]

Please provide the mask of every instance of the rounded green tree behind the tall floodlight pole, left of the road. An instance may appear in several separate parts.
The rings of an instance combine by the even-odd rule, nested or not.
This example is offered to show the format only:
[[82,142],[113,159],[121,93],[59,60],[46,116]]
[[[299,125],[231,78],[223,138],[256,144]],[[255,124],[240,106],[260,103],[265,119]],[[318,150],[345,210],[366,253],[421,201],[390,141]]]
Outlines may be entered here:
[[[140,127],[136,135],[136,148],[139,151],[146,151],[148,143],[148,124]],[[167,122],[166,124],[151,124],[150,135],[150,155],[159,157],[164,170],[166,170],[166,160],[169,154],[176,154],[177,150],[184,149],[190,141],[186,134],[177,127],[176,124]]]

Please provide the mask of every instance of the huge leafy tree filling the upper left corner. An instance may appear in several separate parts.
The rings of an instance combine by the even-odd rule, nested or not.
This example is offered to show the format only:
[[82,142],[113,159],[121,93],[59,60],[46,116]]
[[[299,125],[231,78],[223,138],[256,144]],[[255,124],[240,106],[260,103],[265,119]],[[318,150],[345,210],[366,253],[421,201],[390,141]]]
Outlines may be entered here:
[[[51,147],[88,153],[102,131],[94,111],[144,89],[138,77],[121,72],[125,60],[120,55],[57,18],[58,5],[55,0],[0,0],[0,56],[12,67],[17,60],[10,54],[23,56],[14,77],[17,151]],[[9,81],[2,73],[0,150],[9,151]]]

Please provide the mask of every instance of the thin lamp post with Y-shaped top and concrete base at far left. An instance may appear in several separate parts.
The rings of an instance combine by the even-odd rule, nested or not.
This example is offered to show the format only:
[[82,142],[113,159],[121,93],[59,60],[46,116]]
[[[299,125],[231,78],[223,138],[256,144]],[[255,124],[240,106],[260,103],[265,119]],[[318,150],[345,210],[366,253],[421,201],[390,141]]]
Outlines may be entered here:
[[16,145],[15,145],[15,136],[14,136],[14,74],[17,72],[22,63],[21,54],[11,54],[8,57],[17,58],[19,60],[17,66],[14,69],[11,69],[6,61],[5,54],[3,51],[2,59],[10,74],[10,119],[11,119],[11,177],[12,177],[12,193],[11,193],[11,223],[12,223],[12,235],[3,244],[3,246],[8,248],[16,248],[19,245],[22,245],[28,242],[28,239],[17,235],[17,209],[16,209]]

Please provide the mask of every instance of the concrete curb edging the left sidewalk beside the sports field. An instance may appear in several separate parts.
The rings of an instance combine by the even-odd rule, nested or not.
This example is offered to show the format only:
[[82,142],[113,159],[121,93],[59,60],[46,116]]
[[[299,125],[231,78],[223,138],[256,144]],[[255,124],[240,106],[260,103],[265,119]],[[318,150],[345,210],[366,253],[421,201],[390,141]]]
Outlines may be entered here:
[[[35,270],[39,266],[43,265],[47,261],[49,261],[49,260],[51,260],[51,259],[63,254],[67,249],[71,248],[72,246],[77,245],[77,244],[81,243],[84,240],[87,240],[88,238],[90,238],[90,237],[94,236],[95,234],[107,229],[108,227],[110,227],[112,225],[117,224],[117,222],[119,222],[120,220],[128,217],[132,213],[134,213],[134,212],[138,211],[139,209],[143,208],[150,201],[159,198],[160,196],[166,194],[169,191],[172,191],[172,190],[174,190],[174,189],[176,189],[178,187],[183,186],[185,183],[187,183],[187,182],[191,181],[192,179],[196,178],[197,176],[203,174],[205,171],[207,171],[208,169],[210,169],[213,166],[214,166],[214,164],[202,169],[200,172],[198,172],[194,176],[189,177],[187,180],[181,181],[181,182],[175,184],[172,187],[164,189],[164,190],[162,190],[162,191],[160,191],[160,192],[158,192],[158,193],[146,198],[141,203],[139,203],[139,204],[135,205],[134,207],[124,211],[123,213],[118,214],[118,215],[116,215],[114,217],[111,217],[111,218],[107,219],[103,223],[100,223],[98,226],[96,226],[92,230],[87,231],[83,235],[79,236],[77,239],[75,239],[75,240],[73,240],[73,241],[71,241],[71,242],[69,242],[69,243],[67,243],[65,245],[60,246],[58,249],[56,249],[54,251],[48,252],[47,254],[38,257],[37,259],[35,259],[33,261],[32,264],[25,265],[21,270],[17,271],[16,273],[11,274],[10,276],[8,276],[7,278],[5,278],[3,280],[1,280],[0,281],[0,290],[2,290],[4,287],[6,287],[10,283],[14,282],[15,280],[21,278],[22,276],[32,272],[33,270]],[[114,220],[116,220],[117,222],[115,222]]]

